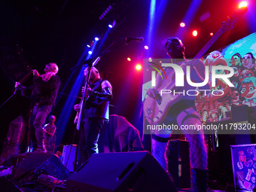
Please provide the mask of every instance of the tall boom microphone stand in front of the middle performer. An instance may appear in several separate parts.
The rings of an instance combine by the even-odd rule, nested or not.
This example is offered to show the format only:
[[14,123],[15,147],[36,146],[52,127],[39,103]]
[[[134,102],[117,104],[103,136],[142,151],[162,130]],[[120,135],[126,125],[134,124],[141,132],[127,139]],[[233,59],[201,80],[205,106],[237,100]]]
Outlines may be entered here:
[[[114,41],[112,44],[114,44],[116,41]],[[122,47],[123,45],[126,45],[126,44],[129,44],[131,41],[130,40],[126,40],[125,43],[123,44],[120,44],[118,45],[117,47],[114,47],[113,49],[111,50],[108,50],[110,46],[108,46],[105,50],[102,51],[102,53],[99,54],[99,56],[96,56],[92,59],[87,59],[86,61],[84,61],[82,64],[79,64],[77,66],[74,66],[71,68],[72,69],[75,69],[77,68],[78,66],[81,66],[81,65],[84,65],[85,66],[88,66],[88,72],[87,72],[87,77],[85,77],[84,79],[84,93],[82,95],[82,99],[81,99],[81,103],[80,103],[80,111],[79,111],[79,114],[78,114],[78,123],[77,123],[77,130],[78,130],[78,144],[77,144],[77,148],[76,148],[76,151],[75,151],[75,161],[74,161],[74,169],[73,169],[73,172],[75,172],[75,169],[76,169],[76,166],[77,166],[77,163],[78,163],[78,149],[79,149],[79,142],[80,142],[80,135],[81,135],[81,129],[83,129],[83,123],[82,123],[82,119],[84,117],[84,107],[86,105],[86,102],[87,102],[87,85],[89,84],[89,80],[90,80],[90,69],[93,67],[93,66],[96,66],[97,62],[99,62],[99,59],[102,55],[104,55],[105,53],[110,53],[112,50],[114,49],[117,49],[118,47]],[[95,59],[96,58],[96,59]]]

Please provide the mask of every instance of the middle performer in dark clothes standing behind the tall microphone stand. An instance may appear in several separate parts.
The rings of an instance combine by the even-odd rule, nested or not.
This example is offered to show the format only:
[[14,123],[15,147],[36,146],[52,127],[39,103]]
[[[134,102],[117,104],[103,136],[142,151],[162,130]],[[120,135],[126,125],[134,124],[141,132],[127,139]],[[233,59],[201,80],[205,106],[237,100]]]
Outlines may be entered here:
[[[84,70],[87,76],[88,68]],[[89,87],[87,88],[89,98],[84,108],[84,129],[81,130],[79,148],[84,163],[93,154],[98,153],[99,133],[105,120],[108,120],[108,105],[112,99],[112,86],[99,76],[99,71],[91,68]],[[75,111],[80,110],[80,105],[74,106]]]

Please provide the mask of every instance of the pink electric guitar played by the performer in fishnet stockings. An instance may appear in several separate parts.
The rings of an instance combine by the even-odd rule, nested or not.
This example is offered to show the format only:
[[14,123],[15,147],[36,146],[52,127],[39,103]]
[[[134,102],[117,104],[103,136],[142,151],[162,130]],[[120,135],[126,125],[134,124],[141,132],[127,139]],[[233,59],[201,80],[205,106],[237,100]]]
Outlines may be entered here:
[[[209,49],[209,47],[212,46],[212,44],[224,33],[227,32],[230,29],[233,29],[237,21],[242,17],[243,14],[246,13],[248,8],[240,8],[238,11],[235,11],[233,16],[223,23],[221,26],[221,29],[218,30],[218,32],[213,35],[213,37],[206,43],[206,45],[197,53],[196,56],[194,56],[194,59],[191,60],[190,66],[194,66],[194,64],[197,63],[198,59],[200,59],[204,53]],[[172,80],[172,75],[174,75],[174,70],[170,72],[167,79]],[[164,81],[162,86],[157,89],[158,93],[160,93],[160,90],[172,90],[175,87],[175,81],[172,81],[171,83]],[[162,123],[165,119],[166,115],[168,114],[169,108],[171,108],[172,105],[174,105],[176,102],[180,101],[182,99],[182,96],[180,94],[172,95],[171,93],[163,94],[163,96],[160,96],[160,94],[157,96],[157,99],[153,99],[151,97],[147,97],[144,100],[143,104],[143,111],[144,116],[147,118],[148,122],[151,124],[157,124]]]

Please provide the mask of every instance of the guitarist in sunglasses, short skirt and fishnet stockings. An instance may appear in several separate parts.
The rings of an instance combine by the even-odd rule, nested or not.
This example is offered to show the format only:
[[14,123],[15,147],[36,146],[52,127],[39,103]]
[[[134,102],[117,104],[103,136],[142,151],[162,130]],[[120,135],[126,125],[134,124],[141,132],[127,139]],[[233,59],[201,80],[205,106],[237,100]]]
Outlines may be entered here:
[[[184,55],[184,44],[178,38],[168,38],[166,44],[166,53],[172,59],[172,63],[178,64],[179,66],[190,65],[190,79],[196,83],[203,82],[205,78],[205,66],[203,62],[198,61],[194,66],[185,59]],[[183,68],[184,69],[184,68]],[[166,67],[164,71],[168,76],[172,72],[172,68]],[[156,87],[149,88],[147,91],[148,96],[154,99],[159,98],[158,88],[162,84],[169,84],[171,81],[175,81],[175,77],[172,77],[171,81],[163,82],[160,75],[157,74]],[[174,75],[173,75],[174,76]],[[206,84],[205,87],[200,87],[202,90],[209,90],[209,84]],[[187,92],[187,90],[195,90],[195,87],[191,87],[187,84],[187,81],[184,80],[184,87],[174,87],[176,92]],[[202,125],[200,115],[196,111],[195,99],[196,96],[186,96],[181,95],[182,98],[173,104],[168,111],[168,114],[163,121],[166,125],[178,125],[180,128],[181,125]],[[152,154],[157,159],[157,161],[163,166],[163,169],[166,169],[166,145],[169,140],[169,136],[172,133],[172,130],[154,130],[152,134]],[[207,149],[204,140],[203,130],[186,130],[184,132],[188,142],[190,143],[190,161],[193,166],[193,183],[195,191],[206,191],[207,189]]]

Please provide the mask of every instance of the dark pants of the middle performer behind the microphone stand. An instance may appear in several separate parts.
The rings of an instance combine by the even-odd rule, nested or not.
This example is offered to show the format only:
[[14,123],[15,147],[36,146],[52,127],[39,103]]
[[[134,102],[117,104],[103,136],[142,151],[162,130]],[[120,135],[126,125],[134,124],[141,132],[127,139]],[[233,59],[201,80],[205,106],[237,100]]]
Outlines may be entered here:
[[82,163],[93,154],[98,153],[98,139],[104,123],[103,118],[92,117],[84,121],[84,129],[81,130],[79,148],[82,155]]

